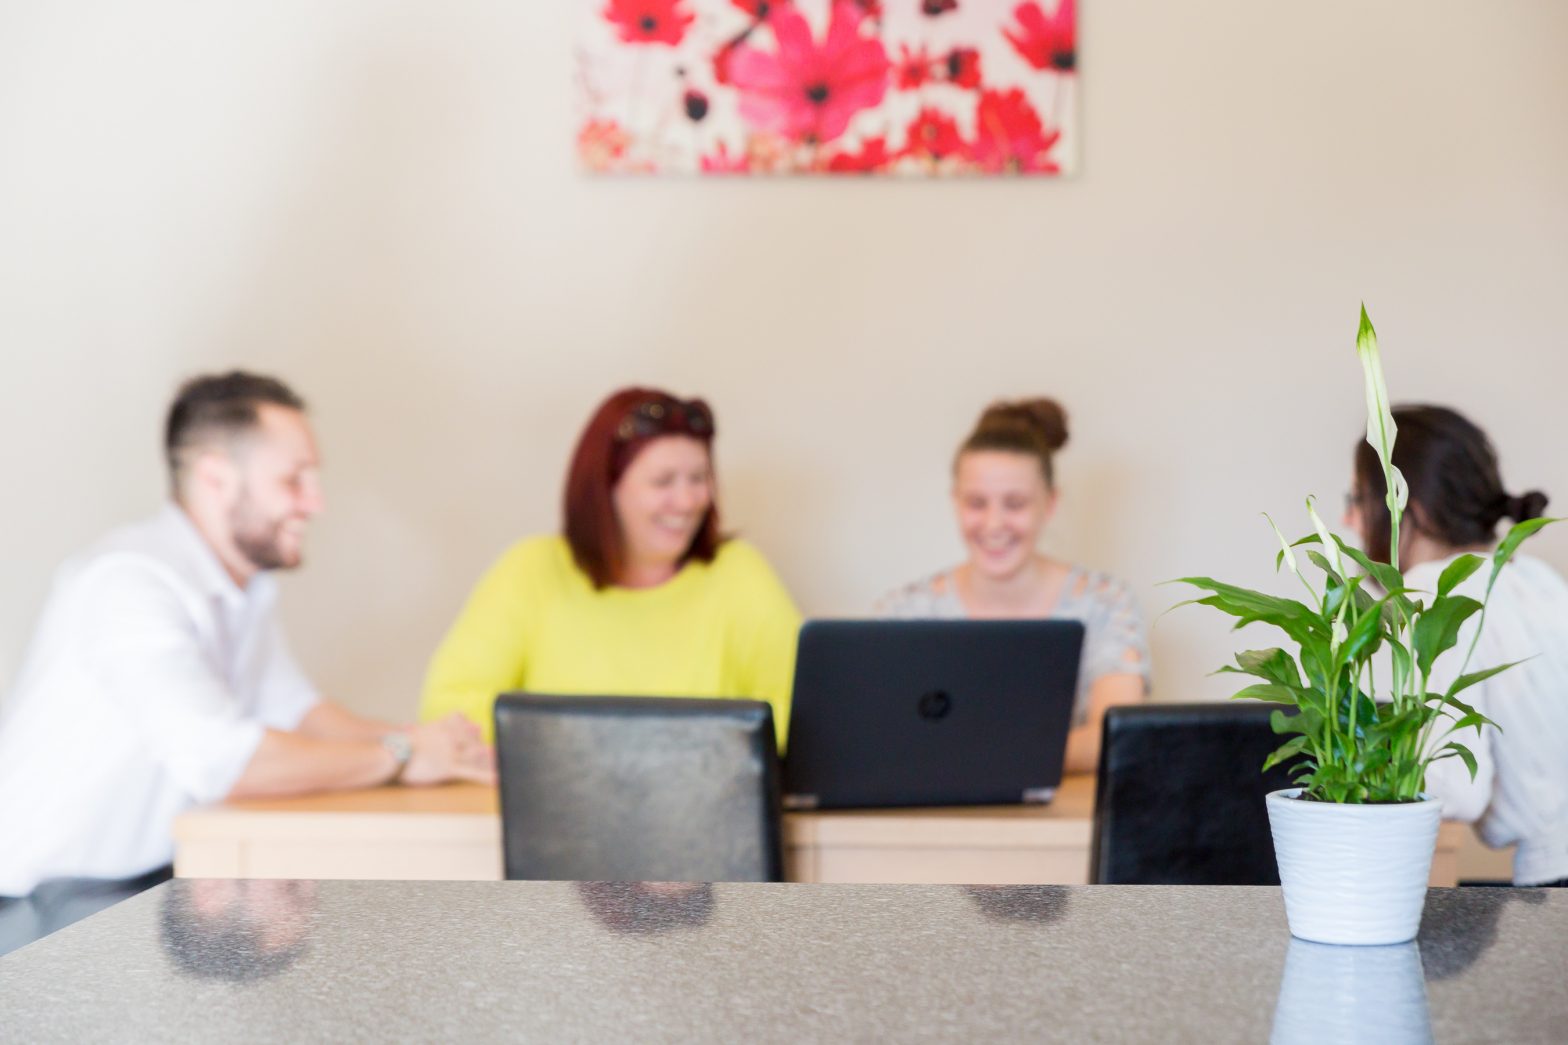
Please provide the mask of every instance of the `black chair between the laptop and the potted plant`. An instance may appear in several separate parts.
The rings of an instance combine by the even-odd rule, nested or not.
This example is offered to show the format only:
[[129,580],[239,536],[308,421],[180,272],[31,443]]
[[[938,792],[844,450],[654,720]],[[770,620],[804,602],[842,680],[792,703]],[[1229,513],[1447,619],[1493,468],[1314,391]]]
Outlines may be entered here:
[[1264,796],[1294,786],[1261,772],[1289,736],[1275,705],[1220,701],[1110,708],[1094,788],[1090,882],[1279,885]]

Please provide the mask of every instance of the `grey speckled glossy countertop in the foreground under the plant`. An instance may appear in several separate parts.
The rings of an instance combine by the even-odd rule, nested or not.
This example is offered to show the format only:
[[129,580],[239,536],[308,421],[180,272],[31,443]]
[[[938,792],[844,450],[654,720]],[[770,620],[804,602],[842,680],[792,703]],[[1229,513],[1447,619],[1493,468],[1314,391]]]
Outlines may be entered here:
[[176,880],[0,959],[0,1040],[1563,1042],[1568,891],[1402,948],[1273,888]]

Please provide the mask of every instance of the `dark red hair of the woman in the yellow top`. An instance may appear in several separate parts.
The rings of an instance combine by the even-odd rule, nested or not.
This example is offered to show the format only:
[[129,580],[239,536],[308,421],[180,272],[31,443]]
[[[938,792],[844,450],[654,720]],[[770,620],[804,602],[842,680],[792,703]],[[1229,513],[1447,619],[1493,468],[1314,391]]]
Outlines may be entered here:
[[[709,460],[713,457],[713,428],[693,431],[688,425],[679,424],[687,417],[684,410],[668,413],[671,422],[660,431],[649,435],[633,435],[624,438],[618,435],[622,422],[643,403],[681,405],[674,395],[654,388],[622,388],[619,392],[599,403],[599,410],[588,419],[588,425],[577,438],[577,449],[572,452],[572,464],[566,472],[566,499],[561,530],[566,543],[572,549],[577,568],[588,574],[594,588],[605,588],[619,581],[626,568],[626,540],[621,537],[621,521],[615,515],[615,485],[654,439],[668,435],[682,435],[696,439],[707,449]],[[693,400],[695,405],[701,405]],[[701,405],[704,414],[707,406]],[[717,488],[715,488],[717,494]],[[713,562],[723,538],[718,533],[718,499],[707,505],[707,515],[691,538],[691,546],[681,555],[677,566],[696,559],[698,562]]]

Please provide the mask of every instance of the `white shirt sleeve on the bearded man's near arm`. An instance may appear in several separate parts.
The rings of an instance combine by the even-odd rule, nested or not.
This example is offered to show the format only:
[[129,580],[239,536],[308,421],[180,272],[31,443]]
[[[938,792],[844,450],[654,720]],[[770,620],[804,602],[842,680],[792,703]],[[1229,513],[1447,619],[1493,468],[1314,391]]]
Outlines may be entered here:
[[147,753],[194,802],[229,794],[265,726],[245,714],[191,607],[154,563],[100,562],[78,592],[83,667]]

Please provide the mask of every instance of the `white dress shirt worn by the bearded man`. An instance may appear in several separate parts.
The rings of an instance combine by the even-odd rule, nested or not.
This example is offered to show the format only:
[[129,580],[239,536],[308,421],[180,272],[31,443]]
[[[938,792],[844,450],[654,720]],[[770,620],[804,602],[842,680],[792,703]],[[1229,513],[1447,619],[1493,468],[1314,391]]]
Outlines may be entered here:
[[318,697],[274,601],[174,505],[60,568],[0,705],[0,896],[168,865],[174,817],[299,725]]

